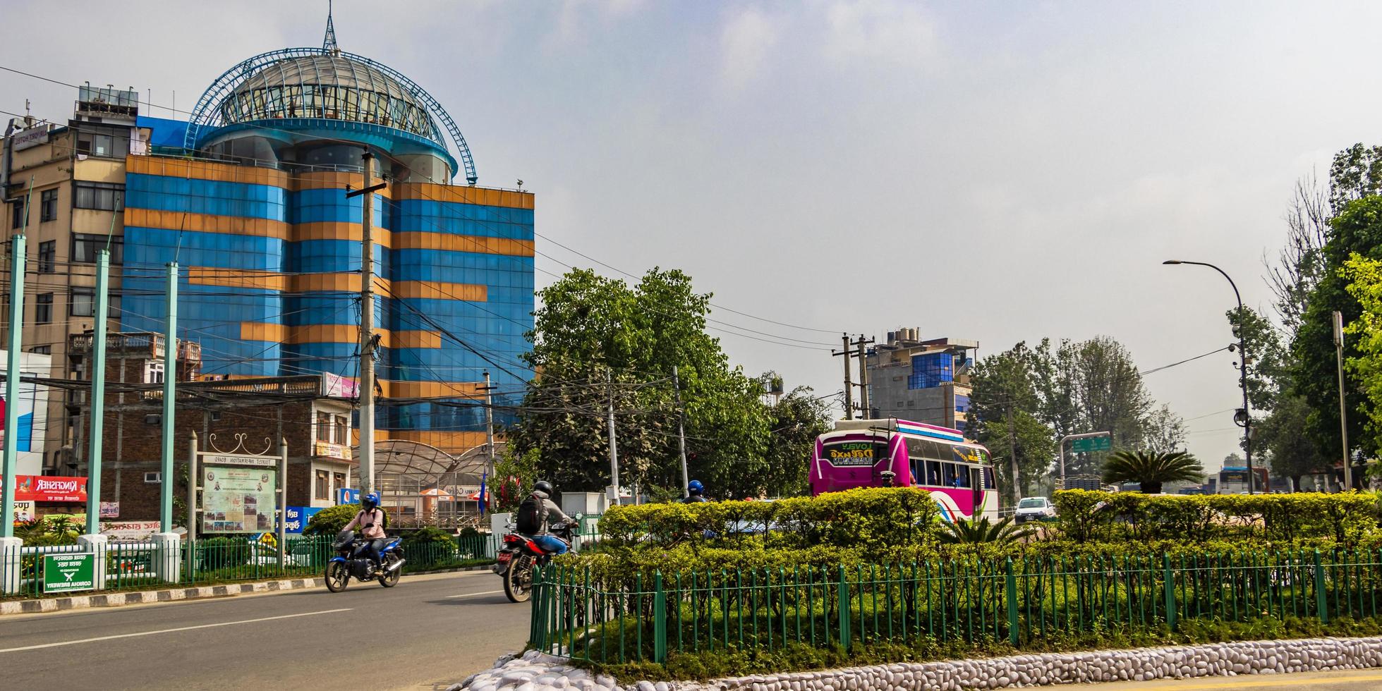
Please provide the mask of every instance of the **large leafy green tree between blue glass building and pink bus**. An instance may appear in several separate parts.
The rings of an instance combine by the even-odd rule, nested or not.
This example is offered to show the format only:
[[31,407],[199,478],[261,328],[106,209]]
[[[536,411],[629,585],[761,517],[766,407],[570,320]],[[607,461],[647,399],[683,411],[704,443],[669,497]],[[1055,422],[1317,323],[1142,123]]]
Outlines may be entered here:
[[771,419],[761,387],[731,368],[706,333],[710,296],[697,293],[690,276],[654,268],[629,286],[574,269],[538,297],[524,359],[539,376],[510,441],[518,453],[540,449],[545,477],[562,491],[609,484],[612,404],[622,485],[681,484],[676,423],[684,413],[692,475],[723,496],[766,489]]

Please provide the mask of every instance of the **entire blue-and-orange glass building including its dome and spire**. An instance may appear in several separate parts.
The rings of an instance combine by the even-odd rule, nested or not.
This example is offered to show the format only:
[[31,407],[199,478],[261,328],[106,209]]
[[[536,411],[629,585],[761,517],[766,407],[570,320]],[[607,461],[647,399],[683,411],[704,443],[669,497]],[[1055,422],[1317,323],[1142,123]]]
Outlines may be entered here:
[[203,376],[354,380],[362,199],[346,191],[363,187],[369,151],[387,182],[373,213],[376,388],[410,401],[381,406],[380,439],[459,453],[484,441],[482,408],[456,404],[484,395],[484,372],[509,402],[522,390],[533,195],[478,187],[437,100],[341,51],[328,22],[321,48],[228,69],[188,122],[141,119],[155,146],[126,164],[122,329],[160,329],[163,278],[148,267],[177,263],[178,332],[200,341]]

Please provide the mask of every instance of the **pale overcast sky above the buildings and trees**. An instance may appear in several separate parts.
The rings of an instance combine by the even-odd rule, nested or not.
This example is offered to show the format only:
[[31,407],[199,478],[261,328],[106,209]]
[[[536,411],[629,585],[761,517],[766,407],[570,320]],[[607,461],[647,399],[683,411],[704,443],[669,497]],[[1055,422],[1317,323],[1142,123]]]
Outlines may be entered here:
[[[0,65],[191,109],[243,58],[319,46],[325,15],[11,0]],[[1382,140],[1379,23],[1375,3],[1260,0],[336,3],[341,48],[426,87],[480,182],[522,178],[554,242],[791,325],[916,326],[981,355],[1107,334],[1142,369],[1230,340],[1227,283],[1164,258],[1219,264],[1270,310],[1294,182]],[[0,73],[0,109],[25,98],[65,120],[75,93]],[[539,286],[591,265],[538,250]],[[719,332],[746,372],[840,388],[831,333],[713,316],[773,334]],[[1147,377],[1209,466],[1236,449],[1231,362]]]

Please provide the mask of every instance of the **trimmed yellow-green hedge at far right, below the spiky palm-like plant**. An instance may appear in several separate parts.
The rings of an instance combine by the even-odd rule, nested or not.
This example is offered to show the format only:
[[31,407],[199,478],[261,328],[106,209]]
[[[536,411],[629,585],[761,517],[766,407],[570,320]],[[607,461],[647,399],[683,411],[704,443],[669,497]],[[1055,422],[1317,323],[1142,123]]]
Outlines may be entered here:
[[1056,492],[1060,535],[1074,542],[1332,540],[1349,546],[1378,527],[1376,496]]

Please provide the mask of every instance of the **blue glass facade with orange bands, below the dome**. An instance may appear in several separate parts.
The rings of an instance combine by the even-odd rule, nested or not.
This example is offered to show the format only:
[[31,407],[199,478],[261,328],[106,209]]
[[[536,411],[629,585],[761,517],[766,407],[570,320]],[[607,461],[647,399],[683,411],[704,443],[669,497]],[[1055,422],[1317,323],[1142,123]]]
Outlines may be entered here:
[[[163,329],[160,267],[176,260],[178,332],[202,344],[205,375],[358,375],[362,200],[346,198],[351,174],[127,163],[122,329]],[[484,430],[464,394],[488,370],[496,402],[517,404],[528,375],[532,196],[395,182],[376,195],[375,228],[381,386],[395,398],[455,397],[383,406],[379,427],[439,433],[417,441],[464,451],[445,442]]]

